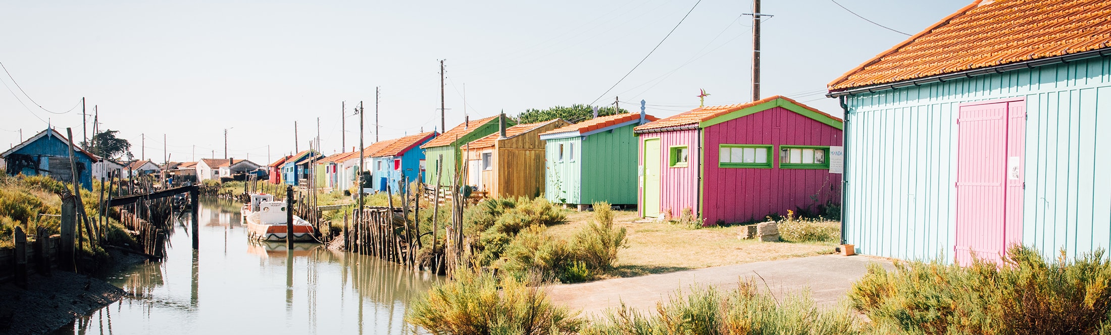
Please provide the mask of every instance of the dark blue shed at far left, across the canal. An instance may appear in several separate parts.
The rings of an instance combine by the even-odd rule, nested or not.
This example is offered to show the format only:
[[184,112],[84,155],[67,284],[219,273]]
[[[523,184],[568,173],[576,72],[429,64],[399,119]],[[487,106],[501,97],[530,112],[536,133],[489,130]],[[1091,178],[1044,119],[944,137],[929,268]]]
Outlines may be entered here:
[[[0,153],[8,174],[49,175],[58,181],[72,182],[73,172],[69,155],[69,140],[53,129],[43,130]],[[79,146],[73,148],[73,160],[77,163],[78,182],[81,183],[81,187],[92,191],[92,163],[99,160]]]

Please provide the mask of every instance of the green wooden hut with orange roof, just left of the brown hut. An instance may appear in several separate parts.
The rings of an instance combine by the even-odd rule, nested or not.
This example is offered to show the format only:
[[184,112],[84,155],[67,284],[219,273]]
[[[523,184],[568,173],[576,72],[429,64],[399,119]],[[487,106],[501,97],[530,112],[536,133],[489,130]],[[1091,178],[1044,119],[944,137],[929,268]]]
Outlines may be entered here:
[[[506,120],[508,125],[513,125],[513,120]],[[456,128],[436,136],[420,148],[424,150],[424,183],[428,185],[448,186],[456,175],[457,168],[462,156],[462,149],[467,143],[481,139],[486,135],[498,132],[498,115],[479,120],[467,120]],[[437,181],[437,166],[442,169],[440,180]]]

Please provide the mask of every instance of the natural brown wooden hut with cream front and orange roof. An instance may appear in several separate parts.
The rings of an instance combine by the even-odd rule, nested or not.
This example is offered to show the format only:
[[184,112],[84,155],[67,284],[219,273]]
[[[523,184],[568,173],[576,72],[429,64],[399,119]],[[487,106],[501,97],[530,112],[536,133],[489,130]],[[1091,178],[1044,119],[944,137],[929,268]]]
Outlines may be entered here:
[[562,119],[508,128],[502,123],[501,131],[463,145],[463,182],[492,197],[542,196],[546,143],[540,134],[570,124]]

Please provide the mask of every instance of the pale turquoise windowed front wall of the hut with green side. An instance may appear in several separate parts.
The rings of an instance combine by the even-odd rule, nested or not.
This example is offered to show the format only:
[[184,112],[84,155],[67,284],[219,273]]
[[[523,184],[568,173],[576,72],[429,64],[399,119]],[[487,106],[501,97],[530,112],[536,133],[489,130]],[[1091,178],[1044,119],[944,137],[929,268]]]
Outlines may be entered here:
[[[579,204],[582,194],[582,160],[579,153],[582,143],[579,136],[548,140],[544,148],[544,197],[553,203]],[[570,156],[574,143],[577,158]],[[563,145],[563,160],[559,159],[559,146]]]

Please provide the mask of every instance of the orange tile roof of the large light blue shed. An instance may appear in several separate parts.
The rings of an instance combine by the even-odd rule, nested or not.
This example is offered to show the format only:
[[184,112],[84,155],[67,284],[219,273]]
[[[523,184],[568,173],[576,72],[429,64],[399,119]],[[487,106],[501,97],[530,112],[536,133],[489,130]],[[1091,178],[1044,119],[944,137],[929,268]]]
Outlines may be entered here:
[[1111,2],[1105,0],[977,0],[828,88],[892,83],[1104,49],[1109,43]]

